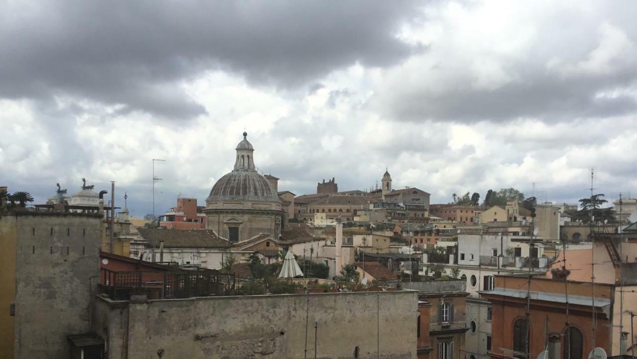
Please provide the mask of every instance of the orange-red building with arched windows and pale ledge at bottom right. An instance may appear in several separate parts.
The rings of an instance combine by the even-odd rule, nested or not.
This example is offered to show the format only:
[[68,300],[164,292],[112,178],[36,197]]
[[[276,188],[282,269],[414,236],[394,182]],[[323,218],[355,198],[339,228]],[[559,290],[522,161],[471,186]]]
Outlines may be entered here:
[[594,347],[612,353],[614,285],[598,283],[592,296],[590,283],[532,278],[529,316],[527,288],[527,278],[497,275],[494,289],[480,292],[492,305],[492,335],[487,339],[492,359],[536,358],[553,332],[561,334],[562,358],[581,359]]

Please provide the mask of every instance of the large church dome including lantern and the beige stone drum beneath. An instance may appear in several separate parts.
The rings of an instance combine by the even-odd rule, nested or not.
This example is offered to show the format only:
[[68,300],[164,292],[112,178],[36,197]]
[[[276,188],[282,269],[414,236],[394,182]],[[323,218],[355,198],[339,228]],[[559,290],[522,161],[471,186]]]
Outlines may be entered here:
[[203,210],[208,229],[231,243],[259,234],[278,239],[287,215],[271,181],[257,172],[254,147],[247,136],[243,132],[236,147],[233,171],[215,183]]

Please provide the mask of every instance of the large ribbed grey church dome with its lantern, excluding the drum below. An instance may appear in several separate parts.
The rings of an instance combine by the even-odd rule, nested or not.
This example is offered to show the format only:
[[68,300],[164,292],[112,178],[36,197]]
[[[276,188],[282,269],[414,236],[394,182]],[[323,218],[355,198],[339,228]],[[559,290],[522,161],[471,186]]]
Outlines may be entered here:
[[259,174],[254,166],[254,148],[243,132],[243,141],[237,147],[232,172],[225,174],[212,187],[207,201],[266,201],[279,202],[274,186]]

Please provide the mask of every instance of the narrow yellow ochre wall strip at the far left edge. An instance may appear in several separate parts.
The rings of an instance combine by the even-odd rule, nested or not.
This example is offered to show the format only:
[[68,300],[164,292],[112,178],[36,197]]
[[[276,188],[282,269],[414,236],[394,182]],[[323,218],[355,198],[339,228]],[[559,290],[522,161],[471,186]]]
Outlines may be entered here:
[[17,217],[0,216],[0,359],[13,359],[13,316],[15,301],[15,250]]

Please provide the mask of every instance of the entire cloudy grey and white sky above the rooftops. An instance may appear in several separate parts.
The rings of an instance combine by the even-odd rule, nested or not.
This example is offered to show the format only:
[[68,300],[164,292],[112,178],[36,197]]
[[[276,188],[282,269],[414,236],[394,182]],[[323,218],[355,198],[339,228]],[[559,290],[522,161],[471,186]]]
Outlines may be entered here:
[[[0,185],[203,202],[245,128],[280,190],[637,197],[637,2],[0,0]],[[380,185],[380,183],[379,183]]]

